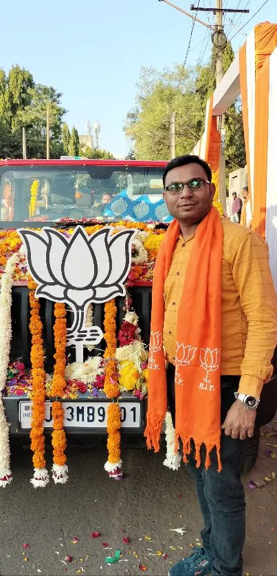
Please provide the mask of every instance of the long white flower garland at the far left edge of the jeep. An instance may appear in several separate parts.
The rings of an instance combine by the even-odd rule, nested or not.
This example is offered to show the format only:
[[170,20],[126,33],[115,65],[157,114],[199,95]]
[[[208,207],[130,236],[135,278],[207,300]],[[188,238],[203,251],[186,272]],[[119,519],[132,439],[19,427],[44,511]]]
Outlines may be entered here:
[[7,378],[10,360],[10,340],[12,338],[12,283],[16,264],[22,257],[22,251],[13,254],[5,266],[1,278],[0,294],[0,486],[5,487],[12,481],[10,470],[9,424],[5,419],[2,394]]

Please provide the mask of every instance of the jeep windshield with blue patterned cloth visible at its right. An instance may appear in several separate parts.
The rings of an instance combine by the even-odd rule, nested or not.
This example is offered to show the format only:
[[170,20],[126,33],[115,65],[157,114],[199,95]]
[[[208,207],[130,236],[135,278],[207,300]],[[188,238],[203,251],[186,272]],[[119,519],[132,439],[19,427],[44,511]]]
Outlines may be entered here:
[[[164,168],[137,166],[5,166],[0,170],[1,222],[168,221]],[[7,224],[6,224],[7,225]]]

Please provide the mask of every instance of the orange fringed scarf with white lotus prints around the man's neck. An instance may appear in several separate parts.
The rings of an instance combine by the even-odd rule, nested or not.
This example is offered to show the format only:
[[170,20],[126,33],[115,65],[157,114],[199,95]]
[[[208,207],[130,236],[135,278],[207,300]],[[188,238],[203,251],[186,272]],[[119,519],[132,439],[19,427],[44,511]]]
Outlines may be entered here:
[[[151,338],[149,345],[148,448],[159,450],[159,437],[167,411],[166,367],[163,350],[164,281],[180,233],[173,220],[166,231],[155,264],[152,294]],[[206,446],[206,468],[210,451],[221,439],[220,349],[221,349],[221,265],[223,227],[217,209],[212,207],[195,234],[186,270],[177,321],[175,354],[176,446],[180,438],[186,454],[195,443],[197,467],[201,445]]]

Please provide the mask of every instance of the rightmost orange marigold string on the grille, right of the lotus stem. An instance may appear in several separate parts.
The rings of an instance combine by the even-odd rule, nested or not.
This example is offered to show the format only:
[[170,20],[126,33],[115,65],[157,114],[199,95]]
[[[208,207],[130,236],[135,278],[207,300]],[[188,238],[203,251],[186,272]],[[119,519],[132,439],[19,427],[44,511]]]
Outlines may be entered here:
[[[114,299],[104,304],[104,338],[107,343],[107,348],[104,352],[104,358],[107,358],[104,393],[106,393],[107,397],[111,400],[118,398],[120,394],[115,361],[116,312],[117,310]],[[120,459],[120,426],[120,406],[118,402],[112,402],[108,408],[107,419],[107,448],[109,456],[104,468],[109,472],[110,476],[115,478],[122,476],[122,461]]]

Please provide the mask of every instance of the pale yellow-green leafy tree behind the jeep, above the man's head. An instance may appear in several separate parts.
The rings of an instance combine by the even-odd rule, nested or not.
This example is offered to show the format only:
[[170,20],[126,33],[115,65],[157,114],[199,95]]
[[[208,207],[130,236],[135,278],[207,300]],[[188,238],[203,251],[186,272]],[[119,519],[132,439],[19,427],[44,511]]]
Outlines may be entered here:
[[175,111],[176,154],[189,153],[199,139],[203,124],[201,100],[195,95],[192,69],[182,73],[142,69],[137,107],[127,115],[125,131],[137,159],[166,160],[170,157],[170,114]]

